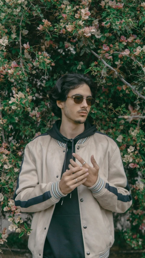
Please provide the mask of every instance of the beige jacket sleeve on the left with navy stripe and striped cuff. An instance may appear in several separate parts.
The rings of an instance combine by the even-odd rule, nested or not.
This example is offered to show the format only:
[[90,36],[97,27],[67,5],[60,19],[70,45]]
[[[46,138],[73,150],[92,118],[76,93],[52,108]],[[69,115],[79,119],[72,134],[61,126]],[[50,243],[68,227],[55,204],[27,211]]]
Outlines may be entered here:
[[67,195],[60,191],[59,183],[60,180],[39,184],[35,159],[27,144],[13,196],[15,206],[21,212],[37,212],[49,208]]

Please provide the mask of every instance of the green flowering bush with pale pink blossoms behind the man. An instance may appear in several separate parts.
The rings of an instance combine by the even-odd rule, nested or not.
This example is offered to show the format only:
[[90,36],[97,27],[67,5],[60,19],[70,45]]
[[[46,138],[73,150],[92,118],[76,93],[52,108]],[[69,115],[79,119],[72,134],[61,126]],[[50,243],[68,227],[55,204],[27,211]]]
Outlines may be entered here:
[[145,2],[137,0],[0,1],[0,214],[11,221],[0,226],[0,244],[8,230],[31,234],[12,200],[24,148],[58,119],[49,90],[76,72],[96,83],[89,120],[120,147],[133,197],[125,214],[114,214],[115,229],[131,247],[145,249],[144,23]]

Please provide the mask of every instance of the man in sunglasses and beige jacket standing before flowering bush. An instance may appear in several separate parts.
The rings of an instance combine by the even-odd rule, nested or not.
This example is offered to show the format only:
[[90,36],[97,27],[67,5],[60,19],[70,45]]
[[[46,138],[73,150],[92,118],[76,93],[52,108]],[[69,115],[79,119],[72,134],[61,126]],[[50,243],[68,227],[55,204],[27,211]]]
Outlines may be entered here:
[[132,204],[118,145],[87,119],[95,94],[83,74],[59,78],[49,97],[60,119],[25,147],[13,199],[34,212],[33,258],[109,257],[112,211]]

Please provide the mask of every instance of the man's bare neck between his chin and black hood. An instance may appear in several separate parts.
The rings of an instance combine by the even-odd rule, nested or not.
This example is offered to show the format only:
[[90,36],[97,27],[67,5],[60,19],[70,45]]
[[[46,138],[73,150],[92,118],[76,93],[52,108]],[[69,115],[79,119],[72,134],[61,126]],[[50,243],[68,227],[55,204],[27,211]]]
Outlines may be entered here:
[[80,133],[84,132],[85,126],[83,124],[74,123],[72,121],[67,121],[67,124],[61,122],[60,133],[65,136],[67,139],[74,139]]

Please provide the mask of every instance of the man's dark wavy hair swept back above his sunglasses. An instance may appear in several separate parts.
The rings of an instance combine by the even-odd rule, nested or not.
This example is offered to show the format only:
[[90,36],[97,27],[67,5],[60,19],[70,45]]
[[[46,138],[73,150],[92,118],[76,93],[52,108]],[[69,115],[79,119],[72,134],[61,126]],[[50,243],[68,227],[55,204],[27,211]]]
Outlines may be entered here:
[[62,118],[61,108],[57,106],[56,100],[66,101],[69,91],[80,87],[84,83],[89,86],[92,97],[95,98],[96,85],[90,77],[83,73],[68,73],[56,81],[56,84],[48,92],[50,107],[55,116]]

